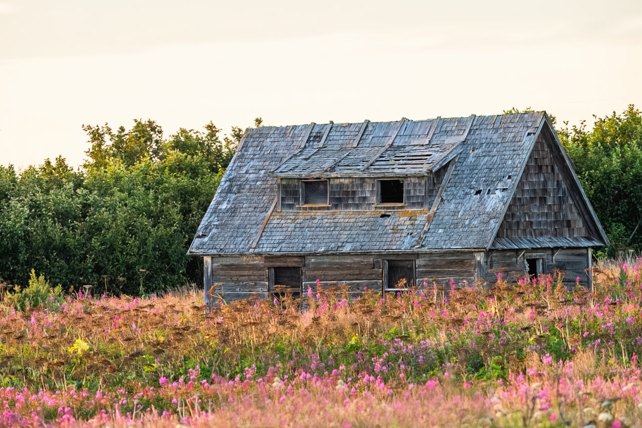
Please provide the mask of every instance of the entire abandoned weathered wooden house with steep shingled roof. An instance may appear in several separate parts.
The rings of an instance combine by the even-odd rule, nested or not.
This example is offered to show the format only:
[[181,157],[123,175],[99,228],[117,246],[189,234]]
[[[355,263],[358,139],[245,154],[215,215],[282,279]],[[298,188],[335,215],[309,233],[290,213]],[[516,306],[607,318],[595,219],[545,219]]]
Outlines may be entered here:
[[535,112],[247,130],[189,254],[229,301],[495,282],[499,268],[589,286],[591,247],[605,244]]

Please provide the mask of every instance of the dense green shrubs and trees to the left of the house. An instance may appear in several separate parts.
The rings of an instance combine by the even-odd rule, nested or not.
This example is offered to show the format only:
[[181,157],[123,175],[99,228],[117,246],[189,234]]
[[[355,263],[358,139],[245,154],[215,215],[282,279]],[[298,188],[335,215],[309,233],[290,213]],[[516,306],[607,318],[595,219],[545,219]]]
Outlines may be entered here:
[[0,166],[0,277],[25,285],[33,269],[76,291],[143,294],[200,277],[187,246],[241,133],[220,139],[153,121],[131,130],[85,126],[82,169],[61,157],[17,173]]

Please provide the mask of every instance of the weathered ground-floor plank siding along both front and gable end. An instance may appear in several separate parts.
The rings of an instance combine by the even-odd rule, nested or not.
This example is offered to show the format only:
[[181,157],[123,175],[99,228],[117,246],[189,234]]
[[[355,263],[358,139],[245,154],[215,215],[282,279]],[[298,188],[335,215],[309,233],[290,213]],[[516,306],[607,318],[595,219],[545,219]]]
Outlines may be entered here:
[[[567,287],[574,286],[577,277],[580,277],[582,286],[591,286],[586,272],[590,267],[589,248],[491,250],[487,253],[211,257],[209,280],[211,284],[216,284],[216,296],[222,296],[227,302],[230,299],[248,298],[254,293],[266,298],[270,289],[270,268],[300,267],[304,295],[308,287],[313,293],[347,287],[351,298],[356,298],[366,288],[377,293],[383,291],[384,260],[414,259],[417,286],[422,287],[426,282],[428,287],[432,287],[432,281],[436,279],[437,285],[447,290],[450,289],[451,280],[455,287],[472,286],[478,278],[494,284],[500,268],[505,268],[505,278],[515,282],[525,275],[525,259],[537,257],[544,259],[543,273],[552,273],[554,269],[563,271],[563,282]],[[204,280],[207,284],[207,274]]]

